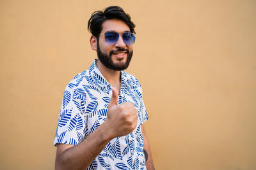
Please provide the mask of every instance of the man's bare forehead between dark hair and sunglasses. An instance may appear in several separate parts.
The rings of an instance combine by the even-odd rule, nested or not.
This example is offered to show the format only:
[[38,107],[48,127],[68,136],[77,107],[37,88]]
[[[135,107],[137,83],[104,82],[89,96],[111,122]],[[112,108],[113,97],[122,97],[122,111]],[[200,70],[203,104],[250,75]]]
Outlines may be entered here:
[[130,29],[127,24],[125,24],[122,20],[106,20],[102,23],[102,33],[104,34],[107,31],[115,31],[115,32],[129,32]]

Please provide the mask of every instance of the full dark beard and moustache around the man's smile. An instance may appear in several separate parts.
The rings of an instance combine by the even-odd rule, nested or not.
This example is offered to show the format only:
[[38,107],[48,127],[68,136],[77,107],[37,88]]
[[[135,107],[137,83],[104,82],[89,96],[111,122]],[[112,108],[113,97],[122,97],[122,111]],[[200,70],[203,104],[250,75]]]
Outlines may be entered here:
[[[119,63],[115,64],[113,62],[113,60],[111,59],[111,55],[113,53],[116,53],[116,52],[124,52],[124,51],[127,53],[126,62],[125,63],[121,63],[121,64],[119,64]],[[122,71],[122,70],[127,69],[127,67],[130,64],[130,61],[132,59],[132,53],[133,53],[133,50],[130,52],[129,50],[127,50],[125,48],[119,48],[119,47],[117,48],[117,50],[111,50],[111,52],[109,52],[109,54],[103,53],[100,50],[99,41],[97,41],[97,55],[98,55],[98,59],[100,60],[100,62],[102,62],[102,64],[105,67],[108,67],[109,69],[113,69],[115,71]]]

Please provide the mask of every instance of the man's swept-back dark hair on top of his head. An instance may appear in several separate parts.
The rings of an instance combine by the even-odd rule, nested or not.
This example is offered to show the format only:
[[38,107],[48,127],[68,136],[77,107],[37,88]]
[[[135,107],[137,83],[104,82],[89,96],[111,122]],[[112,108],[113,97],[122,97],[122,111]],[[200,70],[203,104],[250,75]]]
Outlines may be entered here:
[[102,23],[110,19],[122,20],[128,25],[132,33],[136,33],[134,31],[135,25],[131,21],[130,15],[125,13],[119,6],[109,6],[103,11],[93,12],[91,18],[88,20],[88,31],[90,31],[96,38],[99,38],[99,34],[102,31]]

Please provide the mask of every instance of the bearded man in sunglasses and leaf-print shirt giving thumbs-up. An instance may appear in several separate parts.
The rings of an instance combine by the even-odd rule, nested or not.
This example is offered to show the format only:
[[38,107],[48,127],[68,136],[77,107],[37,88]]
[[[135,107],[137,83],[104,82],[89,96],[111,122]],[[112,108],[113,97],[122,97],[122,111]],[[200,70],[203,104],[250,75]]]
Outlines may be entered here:
[[154,169],[141,85],[123,71],[132,58],[134,27],[118,6],[95,11],[88,21],[99,60],[65,89],[55,169]]

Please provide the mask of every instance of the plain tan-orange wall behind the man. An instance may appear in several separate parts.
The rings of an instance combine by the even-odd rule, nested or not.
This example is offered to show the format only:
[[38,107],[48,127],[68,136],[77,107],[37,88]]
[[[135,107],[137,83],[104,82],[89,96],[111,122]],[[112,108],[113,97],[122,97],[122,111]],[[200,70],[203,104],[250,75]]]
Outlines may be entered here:
[[95,10],[136,24],[156,169],[256,169],[256,1],[0,1],[0,169],[54,169],[62,94],[97,54]]

